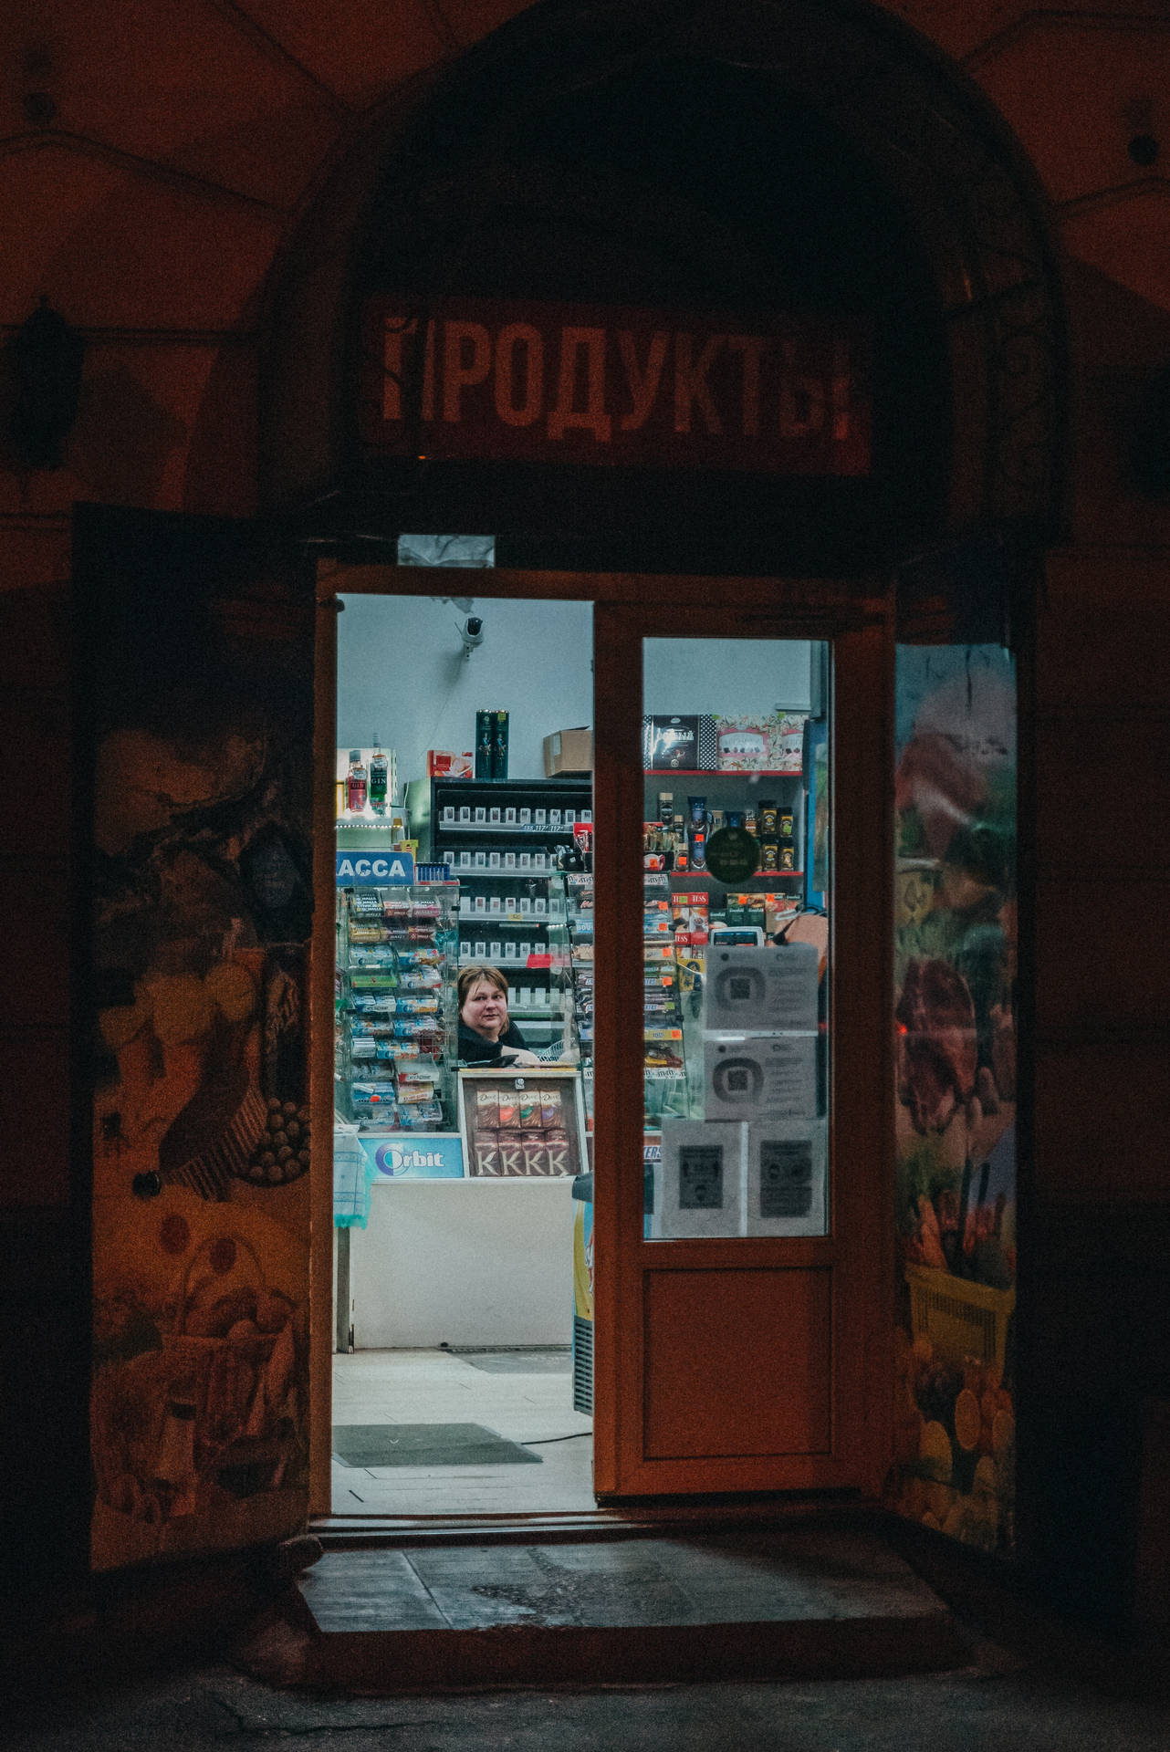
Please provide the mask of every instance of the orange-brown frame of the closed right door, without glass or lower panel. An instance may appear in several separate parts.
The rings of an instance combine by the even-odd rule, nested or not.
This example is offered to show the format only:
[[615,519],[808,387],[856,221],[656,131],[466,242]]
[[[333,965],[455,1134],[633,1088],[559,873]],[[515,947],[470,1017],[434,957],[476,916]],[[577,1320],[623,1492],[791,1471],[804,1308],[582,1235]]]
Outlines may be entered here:
[[[736,592],[737,594],[737,592]],[[802,1240],[643,1240],[641,1125],[617,1123],[625,1113],[641,1116],[641,990],[620,978],[643,957],[641,816],[641,639],[653,636],[757,636],[825,638],[837,650],[848,685],[839,690],[834,736],[853,750],[853,760],[834,760],[834,815],[842,822],[870,822],[872,836],[860,844],[853,834],[835,834],[835,904],[832,909],[830,1016],[834,1028],[830,1102],[832,1132],[872,1141],[870,1174],[830,1172],[832,1221],[827,1237]],[[890,1062],[892,880],[890,790],[893,652],[890,604],[856,599],[818,610],[729,601],[723,580],[711,580],[702,604],[678,599],[671,617],[660,604],[632,606],[596,601],[596,738],[594,785],[597,832],[613,820],[617,843],[596,860],[596,913],[611,927],[594,946],[596,1013],[608,1018],[594,1042],[594,1111],[601,1130],[611,1114],[606,1144],[618,1156],[615,1198],[594,1195],[596,1272],[594,1356],[599,1381],[617,1386],[597,1393],[594,1484],[601,1498],[620,1501],[653,1494],[776,1489],[778,1463],[764,1458],[697,1459],[641,1458],[646,1358],[643,1354],[643,1282],[650,1272],[778,1268],[783,1249],[790,1267],[827,1263],[844,1247],[848,1274],[867,1318],[858,1321],[865,1346],[834,1358],[841,1370],[835,1395],[841,1424],[834,1428],[834,1459],[783,1463],[785,1489],[846,1487],[878,1494],[890,1458],[892,1346],[893,1346],[893,1079]],[[611,809],[611,816],[610,816]],[[848,1076],[837,1077],[841,1067]],[[832,1153],[830,1153],[832,1162]],[[608,1261],[608,1268],[606,1263]],[[835,1284],[834,1321],[841,1316],[841,1279]],[[848,1419],[848,1423],[846,1423]],[[837,1458],[839,1456],[839,1458]]]

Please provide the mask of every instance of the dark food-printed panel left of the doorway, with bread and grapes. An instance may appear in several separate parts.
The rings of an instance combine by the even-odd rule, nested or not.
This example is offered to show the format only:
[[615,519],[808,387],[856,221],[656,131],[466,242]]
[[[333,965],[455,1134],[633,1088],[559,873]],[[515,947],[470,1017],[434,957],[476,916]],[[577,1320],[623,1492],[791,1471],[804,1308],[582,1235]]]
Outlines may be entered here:
[[294,1531],[308,1472],[312,615],[131,561],[89,671],[95,1568]]

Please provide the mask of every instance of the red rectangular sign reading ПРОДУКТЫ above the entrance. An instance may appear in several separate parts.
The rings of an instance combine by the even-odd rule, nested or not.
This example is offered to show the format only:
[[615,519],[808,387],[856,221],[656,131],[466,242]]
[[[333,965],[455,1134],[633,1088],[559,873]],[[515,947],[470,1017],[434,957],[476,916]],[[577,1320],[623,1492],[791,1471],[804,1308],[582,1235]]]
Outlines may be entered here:
[[361,436],[396,456],[869,473],[846,319],[378,294],[361,340]]

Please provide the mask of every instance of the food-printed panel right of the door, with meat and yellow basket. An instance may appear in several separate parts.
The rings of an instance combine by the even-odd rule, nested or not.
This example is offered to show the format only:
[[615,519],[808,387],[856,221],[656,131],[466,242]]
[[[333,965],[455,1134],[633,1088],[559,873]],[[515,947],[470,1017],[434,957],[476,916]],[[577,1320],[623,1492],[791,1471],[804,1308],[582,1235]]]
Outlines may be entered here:
[[1016,683],[998,645],[900,646],[899,1310],[888,1500],[1014,1549]]

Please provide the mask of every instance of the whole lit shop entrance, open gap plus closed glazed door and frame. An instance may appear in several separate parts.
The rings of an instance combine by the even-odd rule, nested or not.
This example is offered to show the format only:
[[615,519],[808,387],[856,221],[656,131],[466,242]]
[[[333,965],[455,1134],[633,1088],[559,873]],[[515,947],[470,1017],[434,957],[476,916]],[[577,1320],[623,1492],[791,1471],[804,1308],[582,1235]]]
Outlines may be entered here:
[[[328,580],[319,1512],[876,1491],[885,603],[455,580]],[[468,1060],[468,972],[524,1062]]]

